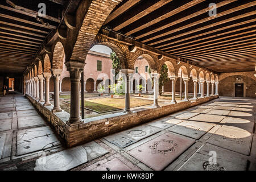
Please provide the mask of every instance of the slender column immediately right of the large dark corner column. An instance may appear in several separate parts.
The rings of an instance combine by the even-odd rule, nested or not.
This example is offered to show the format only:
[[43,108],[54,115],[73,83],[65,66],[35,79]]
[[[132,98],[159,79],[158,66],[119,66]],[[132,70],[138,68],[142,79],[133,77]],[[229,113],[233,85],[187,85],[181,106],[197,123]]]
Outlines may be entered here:
[[130,110],[130,80],[133,77],[133,69],[121,69],[121,73],[125,75],[125,113],[131,113]]

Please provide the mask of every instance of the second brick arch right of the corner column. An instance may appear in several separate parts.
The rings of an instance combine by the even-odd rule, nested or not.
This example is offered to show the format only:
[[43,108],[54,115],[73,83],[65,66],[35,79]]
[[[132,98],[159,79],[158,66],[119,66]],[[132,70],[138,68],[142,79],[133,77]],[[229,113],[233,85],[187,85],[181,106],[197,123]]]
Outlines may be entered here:
[[144,59],[147,60],[147,63],[150,65],[150,68],[151,69],[156,69],[156,66],[155,66],[155,56],[153,55],[150,55],[149,53],[145,52],[145,51],[142,51],[141,49],[138,49],[137,51],[135,51],[133,54],[132,54],[132,58],[131,58],[131,64],[132,65],[129,65],[131,66],[132,68],[134,68],[134,64],[136,62],[136,60],[138,59],[138,57],[141,56],[143,57]]

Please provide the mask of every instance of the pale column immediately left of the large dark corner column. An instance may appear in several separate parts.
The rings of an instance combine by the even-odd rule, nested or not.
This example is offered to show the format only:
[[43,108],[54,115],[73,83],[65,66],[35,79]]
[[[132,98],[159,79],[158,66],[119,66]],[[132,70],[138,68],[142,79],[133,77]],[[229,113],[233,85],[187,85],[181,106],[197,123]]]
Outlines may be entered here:
[[60,75],[62,69],[51,69],[53,80],[54,80],[54,107],[52,112],[62,111],[60,108]]

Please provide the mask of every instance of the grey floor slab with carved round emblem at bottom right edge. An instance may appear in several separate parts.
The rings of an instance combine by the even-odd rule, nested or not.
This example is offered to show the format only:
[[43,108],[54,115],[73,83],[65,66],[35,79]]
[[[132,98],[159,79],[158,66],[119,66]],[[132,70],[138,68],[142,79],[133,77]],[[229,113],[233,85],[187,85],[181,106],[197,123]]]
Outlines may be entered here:
[[[216,163],[209,163],[212,156],[209,152],[216,152]],[[207,143],[180,168],[180,171],[245,171],[246,166],[247,159],[243,155]]]

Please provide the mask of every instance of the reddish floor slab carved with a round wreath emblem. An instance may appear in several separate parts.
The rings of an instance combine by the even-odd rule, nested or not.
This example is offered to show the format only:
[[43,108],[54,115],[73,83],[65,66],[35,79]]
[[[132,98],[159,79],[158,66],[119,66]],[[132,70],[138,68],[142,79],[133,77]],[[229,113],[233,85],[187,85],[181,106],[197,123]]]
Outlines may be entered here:
[[165,133],[128,151],[128,154],[159,171],[174,161],[194,142],[195,140],[187,137]]

